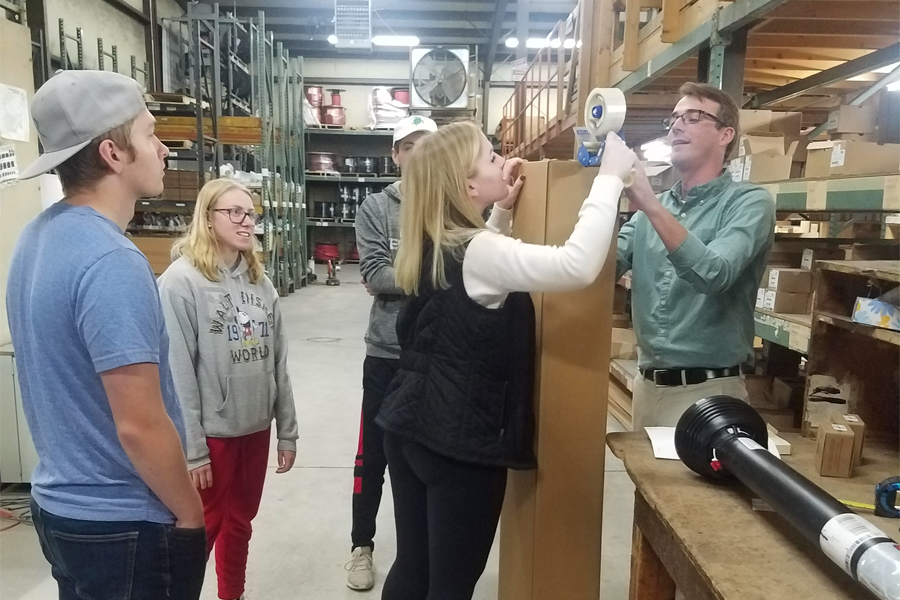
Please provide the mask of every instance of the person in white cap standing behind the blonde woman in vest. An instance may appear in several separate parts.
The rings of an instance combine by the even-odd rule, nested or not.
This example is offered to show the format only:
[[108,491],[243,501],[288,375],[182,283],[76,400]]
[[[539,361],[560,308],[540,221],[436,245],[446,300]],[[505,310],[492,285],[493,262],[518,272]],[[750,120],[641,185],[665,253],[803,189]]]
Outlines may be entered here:
[[[397,123],[391,156],[400,167],[401,176],[416,142],[435,131],[437,125],[428,117],[414,115]],[[400,188],[398,181],[367,196],[356,217],[359,270],[363,284],[374,298],[366,332],[362,418],[353,472],[353,547],[347,564],[347,586],[355,590],[368,590],[375,585],[372,561],[375,517],[381,504],[387,466],[384,438],[381,429],[375,425],[375,415],[381,409],[388,384],[400,367],[397,313],[403,302],[403,291],[394,281],[394,258],[400,247]]]

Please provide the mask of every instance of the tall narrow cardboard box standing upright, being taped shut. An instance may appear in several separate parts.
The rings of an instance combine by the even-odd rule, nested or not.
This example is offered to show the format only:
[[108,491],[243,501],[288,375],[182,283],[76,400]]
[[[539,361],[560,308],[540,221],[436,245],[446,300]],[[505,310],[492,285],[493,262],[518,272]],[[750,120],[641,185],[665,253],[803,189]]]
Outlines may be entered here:
[[[562,245],[596,169],[522,167],[513,237]],[[501,600],[597,600],[615,239],[588,288],[534,294],[537,471],[510,471],[500,525]]]

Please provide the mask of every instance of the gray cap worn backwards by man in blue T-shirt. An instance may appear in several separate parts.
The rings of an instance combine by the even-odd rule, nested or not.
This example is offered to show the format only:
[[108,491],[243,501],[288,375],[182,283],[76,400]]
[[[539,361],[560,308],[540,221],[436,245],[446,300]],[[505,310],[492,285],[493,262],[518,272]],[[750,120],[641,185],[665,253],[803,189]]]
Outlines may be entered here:
[[146,108],[140,84],[130,77],[108,71],[58,72],[31,100],[31,118],[44,153],[19,179],[56,168]]

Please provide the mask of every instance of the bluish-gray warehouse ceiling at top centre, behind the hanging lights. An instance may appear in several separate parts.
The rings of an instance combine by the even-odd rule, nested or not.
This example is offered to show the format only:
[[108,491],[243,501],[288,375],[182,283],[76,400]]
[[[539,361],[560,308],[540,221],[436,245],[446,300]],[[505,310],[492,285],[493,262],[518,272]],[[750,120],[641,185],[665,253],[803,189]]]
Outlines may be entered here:
[[[372,35],[414,35],[421,45],[478,47],[486,53],[498,2],[476,0],[372,0]],[[404,58],[406,48],[373,46],[371,50],[339,49],[328,42],[334,33],[334,0],[232,0],[220,4],[238,17],[265,13],[266,28],[294,56],[307,58]],[[527,12],[528,33],[522,38],[544,38],[565,21],[577,0],[509,0],[499,29],[497,61],[515,57],[504,40],[516,37],[520,8]],[[524,15],[523,15],[524,16]]]

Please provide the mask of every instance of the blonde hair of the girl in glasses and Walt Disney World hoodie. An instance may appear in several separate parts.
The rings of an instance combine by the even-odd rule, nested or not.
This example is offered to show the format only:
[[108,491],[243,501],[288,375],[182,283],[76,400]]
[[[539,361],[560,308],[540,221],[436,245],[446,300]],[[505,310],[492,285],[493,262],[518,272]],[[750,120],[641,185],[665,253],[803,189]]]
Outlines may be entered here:
[[[187,233],[172,246],[172,260],[177,260],[181,256],[188,257],[194,263],[194,267],[210,281],[219,281],[222,254],[209,217],[219,198],[232,190],[240,190],[253,197],[250,190],[231,179],[213,179],[204,185],[197,196],[194,218],[188,226]],[[263,278],[264,271],[259,258],[259,243],[255,238],[253,248],[242,251],[241,256],[247,261],[250,283],[257,283]]]

